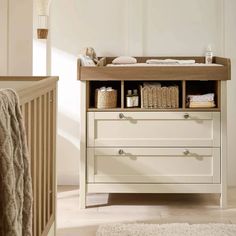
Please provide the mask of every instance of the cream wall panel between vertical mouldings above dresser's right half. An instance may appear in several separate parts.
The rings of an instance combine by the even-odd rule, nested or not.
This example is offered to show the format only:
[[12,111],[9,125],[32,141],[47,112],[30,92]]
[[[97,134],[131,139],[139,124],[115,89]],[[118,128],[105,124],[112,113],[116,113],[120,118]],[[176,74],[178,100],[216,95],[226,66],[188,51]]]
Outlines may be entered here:
[[145,2],[145,55],[203,55],[208,43],[221,53],[220,1]]

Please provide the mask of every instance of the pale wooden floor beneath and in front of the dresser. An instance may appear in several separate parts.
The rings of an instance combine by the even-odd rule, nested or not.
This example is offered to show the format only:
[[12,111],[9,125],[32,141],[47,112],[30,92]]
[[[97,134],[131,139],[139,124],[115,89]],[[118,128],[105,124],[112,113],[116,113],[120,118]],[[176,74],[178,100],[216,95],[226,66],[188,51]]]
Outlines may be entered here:
[[57,236],[93,236],[99,224],[118,222],[236,224],[236,188],[227,209],[214,194],[90,194],[87,201],[79,210],[78,188],[58,188]]

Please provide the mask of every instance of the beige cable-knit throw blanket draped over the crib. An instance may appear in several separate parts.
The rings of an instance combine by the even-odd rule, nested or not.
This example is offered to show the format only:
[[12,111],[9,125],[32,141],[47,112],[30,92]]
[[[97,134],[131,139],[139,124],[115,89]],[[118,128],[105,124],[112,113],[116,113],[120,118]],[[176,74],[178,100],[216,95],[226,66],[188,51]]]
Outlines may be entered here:
[[16,93],[0,90],[0,236],[32,235],[32,182]]

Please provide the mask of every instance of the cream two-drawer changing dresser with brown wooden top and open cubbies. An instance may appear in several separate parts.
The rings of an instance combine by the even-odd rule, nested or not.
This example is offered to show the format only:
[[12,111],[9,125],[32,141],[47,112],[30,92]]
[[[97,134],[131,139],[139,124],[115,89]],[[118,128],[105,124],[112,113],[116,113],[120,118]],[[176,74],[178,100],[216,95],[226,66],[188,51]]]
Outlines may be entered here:
[[[198,68],[199,83],[195,68],[192,73],[189,68],[177,68],[175,73],[168,73],[171,67],[165,68],[169,77],[164,82],[179,85],[180,107],[164,110],[125,107],[126,89],[148,80],[146,71],[143,75],[139,71],[135,80],[132,73],[137,72],[132,68],[126,71],[128,77],[122,72],[123,80],[119,80],[117,70],[108,74],[107,68],[78,67],[81,208],[86,207],[87,193],[219,193],[221,206],[226,206],[226,80],[230,79],[230,61],[219,58],[218,63],[222,66],[215,70]],[[158,72],[160,68],[155,69]],[[189,80],[176,78],[181,73],[181,78],[188,73]],[[221,77],[213,80],[216,73]],[[162,78],[156,73],[152,81]],[[104,84],[118,90],[120,101],[115,109],[93,107],[94,89]],[[214,92],[216,107],[187,108],[186,96],[196,89]]]

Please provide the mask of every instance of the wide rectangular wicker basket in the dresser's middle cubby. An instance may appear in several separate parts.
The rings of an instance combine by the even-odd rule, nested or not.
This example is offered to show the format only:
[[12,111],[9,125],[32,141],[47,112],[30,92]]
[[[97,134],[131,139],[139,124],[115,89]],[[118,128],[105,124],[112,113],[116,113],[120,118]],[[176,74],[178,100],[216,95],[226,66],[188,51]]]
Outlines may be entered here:
[[178,108],[179,107],[179,87],[140,87],[141,108]]

